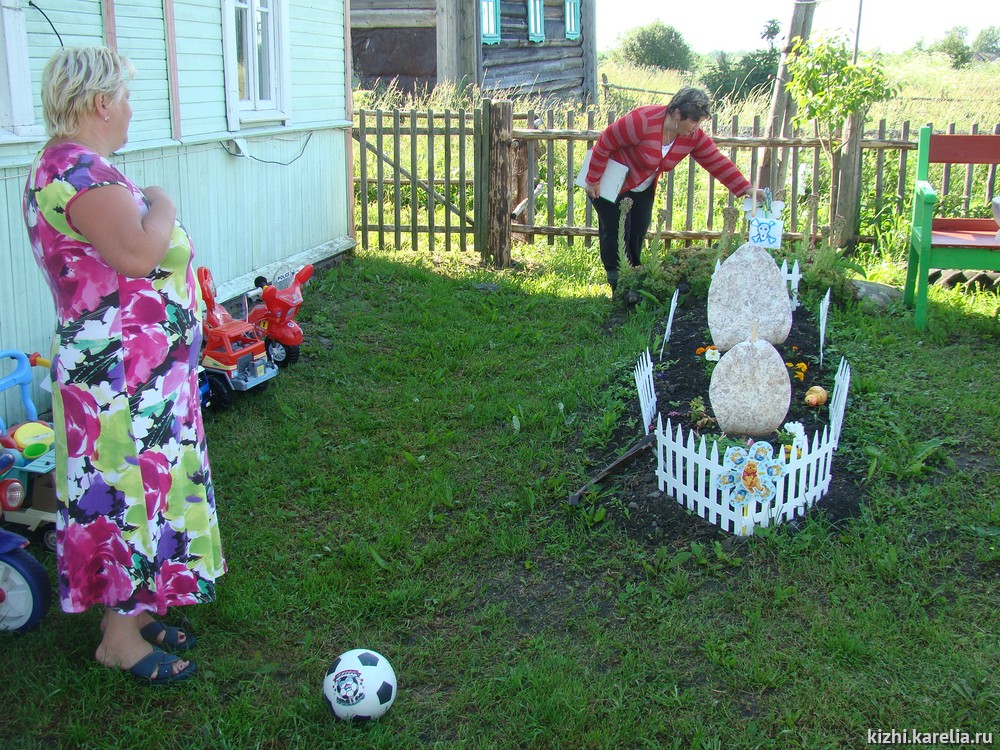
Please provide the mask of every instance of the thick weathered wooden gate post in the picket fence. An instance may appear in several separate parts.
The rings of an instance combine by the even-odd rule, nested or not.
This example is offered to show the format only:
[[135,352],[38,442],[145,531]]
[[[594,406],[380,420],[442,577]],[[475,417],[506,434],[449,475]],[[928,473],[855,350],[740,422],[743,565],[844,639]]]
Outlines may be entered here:
[[[486,246],[483,261],[509,268],[511,201],[511,142],[514,105],[510,101],[484,102],[489,107],[487,126]],[[485,118],[484,118],[485,119]]]

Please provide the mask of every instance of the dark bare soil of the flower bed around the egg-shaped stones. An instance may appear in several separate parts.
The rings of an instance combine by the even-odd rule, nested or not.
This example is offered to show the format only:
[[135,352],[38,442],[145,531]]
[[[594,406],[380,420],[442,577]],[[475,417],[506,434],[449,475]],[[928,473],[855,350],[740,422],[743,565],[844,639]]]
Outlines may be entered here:
[[[829,337],[829,330],[827,334]],[[669,415],[673,424],[683,424],[685,431],[692,428],[699,416],[691,414],[691,402],[694,399],[703,399],[708,415],[712,413],[708,397],[711,378],[709,365],[703,354],[695,353],[697,349],[709,344],[711,337],[706,302],[687,299],[678,305],[674,314],[670,340],[664,348],[662,362],[659,351],[651,352],[657,409],[664,422]],[[820,366],[818,320],[802,307],[793,314],[788,338],[777,349],[785,362],[793,365],[804,362],[807,365],[803,380],[794,376],[791,378],[792,399],[784,421],[801,422],[811,441],[813,435],[821,433],[828,423],[829,412],[827,406],[819,409],[807,407],[804,403],[805,392],[812,385],[821,385],[832,394],[840,357],[827,351],[823,366]],[[641,435],[637,434],[634,427],[642,422],[638,395],[629,417],[627,421],[631,426],[619,429],[606,458],[595,460],[596,470],[593,476],[613,465],[616,457],[622,456],[640,440]],[[713,424],[706,425],[700,430],[700,434],[706,435],[708,439],[719,436]],[[777,435],[757,439],[778,445]],[[840,523],[857,515],[864,501],[863,477],[845,468],[843,460],[838,460],[836,454],[833,460],[829,491],[806,514],[821,514],[834,523]],[[607,506],[606,519],[624,529],[630,538],[654,547],[685,547],[692,541],[723,541],[731,538],[728,532],[685,509],[673,497],[667,497],[660,491],[655,472],[654,441],[651,448],[641,450],[634,460],[600,482],[599,486],[604,490],[601,502]],[[609,497],[611,502],[607,502]],[[588,502],[586,496],[582,502]],[[799,520],[796,519],[796,522]]]

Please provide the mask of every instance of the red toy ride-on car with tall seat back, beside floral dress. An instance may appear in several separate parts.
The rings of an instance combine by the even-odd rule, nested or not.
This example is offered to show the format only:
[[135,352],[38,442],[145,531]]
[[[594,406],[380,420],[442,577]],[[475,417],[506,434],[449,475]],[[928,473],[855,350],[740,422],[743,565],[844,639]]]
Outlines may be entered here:
[[265,388],[267,381],[278,374],[278,368],[268,360],[264,342],[253,325],[235,320],[216,301],[211,271],[202,266],[197,273],[205,302],[201,364],[208,380],[211,405],[225,408],[232,404],[235,392]]

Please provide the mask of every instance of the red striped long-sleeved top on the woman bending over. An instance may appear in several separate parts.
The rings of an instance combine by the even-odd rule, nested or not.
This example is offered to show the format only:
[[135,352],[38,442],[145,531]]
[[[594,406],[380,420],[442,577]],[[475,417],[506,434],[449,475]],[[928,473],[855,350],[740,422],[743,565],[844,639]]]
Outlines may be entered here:
[[663,156],[663,123],[666,119],[665,106],[651,105],[638,107],[608,125],[594,144],[587,182],[591,185],[600,182],[611,158],[628,167],[628,177],[622,185],[624,193],[641,185],[652,175],[659,177],[669,172],[691,154],[734,195],[742,195],[750,189],[750,182],[743,173],[719,151],[701,128],[689,136],[678,135],[670,151]]

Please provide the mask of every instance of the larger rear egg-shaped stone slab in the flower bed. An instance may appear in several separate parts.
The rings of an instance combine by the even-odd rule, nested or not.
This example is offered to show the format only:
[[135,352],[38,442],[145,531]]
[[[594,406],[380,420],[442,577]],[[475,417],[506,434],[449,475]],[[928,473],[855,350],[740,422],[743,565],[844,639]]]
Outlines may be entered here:
[[716,270],[708,289],[712,343],[727,352],[750,338],[780,344],[792,328],[792,304],[781,269],[762,247],[742,245]]

